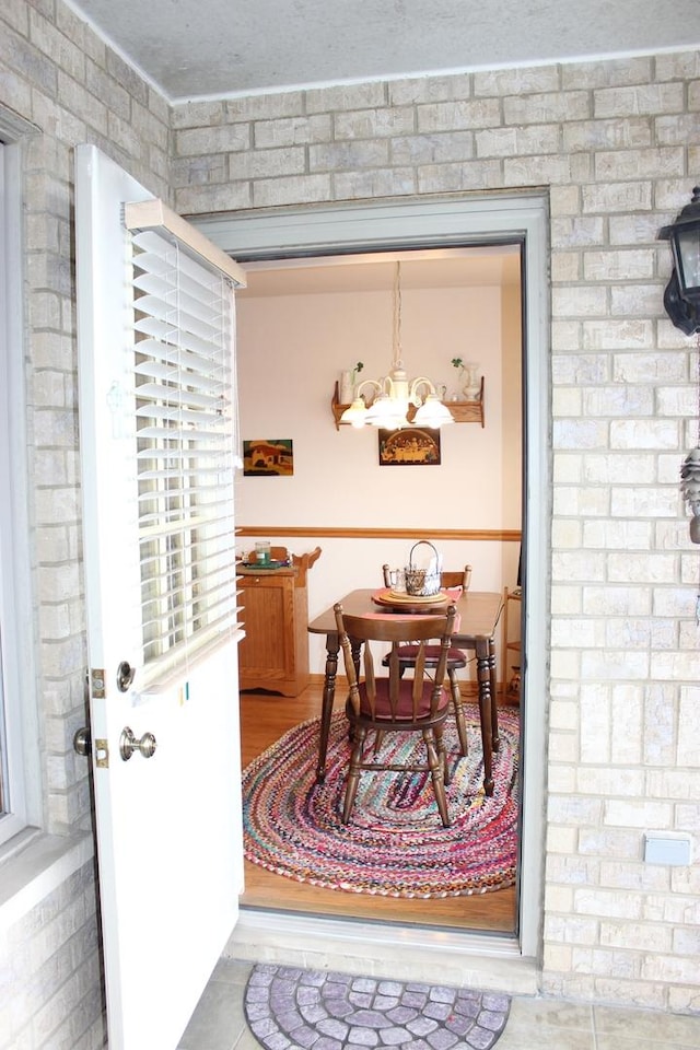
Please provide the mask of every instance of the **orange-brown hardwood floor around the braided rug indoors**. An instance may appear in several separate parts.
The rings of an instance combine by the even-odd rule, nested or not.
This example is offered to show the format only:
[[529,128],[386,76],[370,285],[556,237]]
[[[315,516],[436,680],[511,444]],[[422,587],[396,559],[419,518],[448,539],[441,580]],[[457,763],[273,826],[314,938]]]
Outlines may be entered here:
[[[338,690],[342,695],[342,690]],[[257,755],[293,725],[320,713],[320,684],[312,684],[290,699],[271,693],[241,695],[241,751],[245,768]],[[341,709],[343,700],[337,700]],[[516,923],[515,887],[497,892],[444,900],[396,900],[318,889],[273,875],[256,864],[245,863],[244,908],[270,908],[343,919],[416,923],[422,926],[513,933]]]

